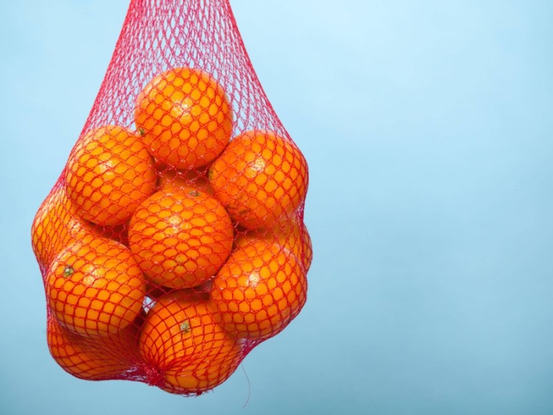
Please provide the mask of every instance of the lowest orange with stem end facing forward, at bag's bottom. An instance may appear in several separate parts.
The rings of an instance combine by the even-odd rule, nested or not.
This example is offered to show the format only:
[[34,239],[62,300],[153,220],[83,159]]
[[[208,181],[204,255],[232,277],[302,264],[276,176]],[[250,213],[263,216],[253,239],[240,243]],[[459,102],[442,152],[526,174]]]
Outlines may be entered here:
[[241,341],[215,321],[209,302],[187,291],[158,299],[147,314],[138,347],[161,378],[153,383],[176,394],[216,387],[243,357]]

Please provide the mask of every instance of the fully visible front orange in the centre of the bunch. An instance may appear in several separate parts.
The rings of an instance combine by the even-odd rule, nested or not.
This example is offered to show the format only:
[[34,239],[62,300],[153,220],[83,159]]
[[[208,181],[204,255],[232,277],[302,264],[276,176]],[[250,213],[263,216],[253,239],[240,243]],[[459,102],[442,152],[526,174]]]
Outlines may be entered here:
[[190,288],[221,268],[234,228],[223,205],[192,187],[153,194],[129,222],[129,246],[156,284]]

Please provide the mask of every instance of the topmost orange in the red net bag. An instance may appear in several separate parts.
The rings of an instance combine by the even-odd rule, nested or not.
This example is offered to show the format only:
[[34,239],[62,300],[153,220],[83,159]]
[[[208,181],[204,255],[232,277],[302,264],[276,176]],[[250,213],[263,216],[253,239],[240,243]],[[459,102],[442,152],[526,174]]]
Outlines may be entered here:
[[232,109],[223,87],[206,72],[173,68],[138,95],[135,124],[151,154],[178,169],[211,163],[232,133]]

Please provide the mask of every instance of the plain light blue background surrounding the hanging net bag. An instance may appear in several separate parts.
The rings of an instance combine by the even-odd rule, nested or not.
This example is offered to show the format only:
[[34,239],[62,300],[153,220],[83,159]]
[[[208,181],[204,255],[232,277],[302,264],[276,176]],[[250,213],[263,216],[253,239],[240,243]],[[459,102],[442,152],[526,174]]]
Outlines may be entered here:
[[128,3],[4,1],[0,412],[553,413],[553,3],[231,3],[310,165],[308,304],[199,398],[57,367],[30,224]]

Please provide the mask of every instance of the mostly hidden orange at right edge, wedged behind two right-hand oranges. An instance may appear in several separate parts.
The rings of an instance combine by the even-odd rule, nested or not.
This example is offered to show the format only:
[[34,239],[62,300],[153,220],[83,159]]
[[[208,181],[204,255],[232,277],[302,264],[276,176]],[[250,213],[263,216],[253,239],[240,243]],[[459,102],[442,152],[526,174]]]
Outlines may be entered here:
[[306,273],[308,272],[313,259],[311,238],[305,223],[299,221],[299,219],[282,221],[269,230],[250,230],[238,234],[234,245],[237,247],[245,246],[255,239],[265,239],[269,243],[278,243],[290,250],[301,261]]

